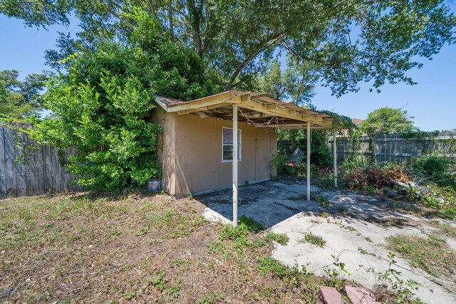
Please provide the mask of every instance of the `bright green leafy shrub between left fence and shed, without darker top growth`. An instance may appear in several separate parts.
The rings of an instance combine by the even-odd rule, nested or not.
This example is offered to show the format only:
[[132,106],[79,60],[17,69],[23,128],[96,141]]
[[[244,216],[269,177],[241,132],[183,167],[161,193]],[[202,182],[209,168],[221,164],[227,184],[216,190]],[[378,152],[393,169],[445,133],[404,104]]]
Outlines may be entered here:
[[134,76],[107,71],[94,72],[93,79],[83,83],[77,79],[83,65],[76,64],[68,77],[50,83],[44,100],[57,118],[37,121],[31,135],[59,150],[75,147],[66,167],[79,185],[92,191],[118,192],[160,177],[160,127],[144,119],[154,108],[147,90]]

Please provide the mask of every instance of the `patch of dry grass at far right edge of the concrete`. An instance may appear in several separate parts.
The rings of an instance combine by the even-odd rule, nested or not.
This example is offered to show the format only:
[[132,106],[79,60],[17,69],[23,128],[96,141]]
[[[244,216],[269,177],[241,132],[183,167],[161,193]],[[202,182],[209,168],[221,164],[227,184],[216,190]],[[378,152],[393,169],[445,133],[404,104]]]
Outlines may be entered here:
[[432,276],[450,276],[447,268],[456,265],[456,253],[447,246],[445,239],[429,236],[390,236],[388,249],[407,258],[410,266],[418,267]]

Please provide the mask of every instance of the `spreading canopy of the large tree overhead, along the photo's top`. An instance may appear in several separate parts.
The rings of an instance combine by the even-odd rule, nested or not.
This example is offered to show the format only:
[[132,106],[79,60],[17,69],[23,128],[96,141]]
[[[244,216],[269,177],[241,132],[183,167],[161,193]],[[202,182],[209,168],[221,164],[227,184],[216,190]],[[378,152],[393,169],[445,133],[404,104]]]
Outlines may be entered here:
[[276,51],[313,69],[333,94],[374,89],[384,83],[413,84],[407,72],[420,68],[445,43],[455,42],[455,16],[445,0],[3,0],[0,12],[28,26],[68,24],[74,14],[83,31],[63,35],[50,61],[100,41],[128,41],[144,11],[171,41],[190,46],[231,89],[264,72]]

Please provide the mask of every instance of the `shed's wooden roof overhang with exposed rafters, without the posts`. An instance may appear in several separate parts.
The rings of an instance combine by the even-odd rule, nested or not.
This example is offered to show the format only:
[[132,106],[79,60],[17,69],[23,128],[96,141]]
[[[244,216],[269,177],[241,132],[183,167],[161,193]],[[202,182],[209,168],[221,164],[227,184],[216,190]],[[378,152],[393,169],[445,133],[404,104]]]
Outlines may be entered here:
[[329,129],[333,125],[330,115],[275,100],[266,93],[230,90],[191,101],[160,96],[155,96],[155,100],[167,112],[217,117],[222,120],[232,120],[232,105],[237,105],[238,120],[255,127],[303,129],[310,122],[313,129]]

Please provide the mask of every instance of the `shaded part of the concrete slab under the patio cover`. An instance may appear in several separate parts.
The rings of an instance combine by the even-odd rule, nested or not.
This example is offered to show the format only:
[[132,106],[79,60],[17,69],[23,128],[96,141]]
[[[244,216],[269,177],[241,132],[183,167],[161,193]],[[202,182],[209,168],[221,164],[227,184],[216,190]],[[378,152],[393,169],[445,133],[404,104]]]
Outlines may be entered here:
[[[407,216],[388,209],[388,203],[373,196],[322,191],[311,187],[311,193],[323,196],[328,203],[306,200],[304,184],[262,182],[239,187],[238,214],[250,216],[266,226],[274,226],[297,214],[306,216],[331,216],[331,220],[345,220],[359,224],[404,226]],[[205,216],[214,221],[232,221],[232,189],[195,196],[207,206]],[[392,218],[397,218],[392,220]]]

